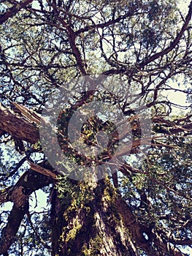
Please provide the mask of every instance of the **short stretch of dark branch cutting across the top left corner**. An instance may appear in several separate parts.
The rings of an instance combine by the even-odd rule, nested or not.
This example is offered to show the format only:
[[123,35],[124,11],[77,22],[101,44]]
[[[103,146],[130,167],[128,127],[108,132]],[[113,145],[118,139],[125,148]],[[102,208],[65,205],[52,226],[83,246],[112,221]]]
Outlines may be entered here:
[[24,0],[20,1],[20,3],[15,4],[10,10],[4,13],[4,15],[0,15],[0,24],[4,23],[9,18],[12,18],[15,14],[17,14],[21,9],[25,8],[28,4],[31,4],[33,0]]

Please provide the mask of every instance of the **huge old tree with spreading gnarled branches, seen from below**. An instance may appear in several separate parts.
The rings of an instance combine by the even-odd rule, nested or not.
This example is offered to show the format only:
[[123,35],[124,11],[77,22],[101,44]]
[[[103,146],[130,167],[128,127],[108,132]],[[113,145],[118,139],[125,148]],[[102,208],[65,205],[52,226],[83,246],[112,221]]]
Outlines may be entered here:
[[[0,202],[13,203],[1,211],[1,255],[186,255],[183,248],[192,244],[191,13],[192,1],[186,13],[174,0],[1,2]],[[94,99],[121,110],[131,149],[120,151],[123,164],[108,168],[105,178],[78,180],[50,165],[39,127],[50,97],[60,89],[68,95],[74,78],[95,74],[107,76],[115,93],[70,95],[57,119],[59,146],[79,169],[96,162],[74,150],[67,135],[70,118]],[[185,105],[174,101],[179,93]],[[151,120],[146,140],[142,110]],[[106,130],[110,143],[98,166],[119,146],[117,126],[91,116],[81,129],[86,146]],[[144,143],[150,145],[145,157]],[[38,189],[50,202],[42,214],[29,207]]]

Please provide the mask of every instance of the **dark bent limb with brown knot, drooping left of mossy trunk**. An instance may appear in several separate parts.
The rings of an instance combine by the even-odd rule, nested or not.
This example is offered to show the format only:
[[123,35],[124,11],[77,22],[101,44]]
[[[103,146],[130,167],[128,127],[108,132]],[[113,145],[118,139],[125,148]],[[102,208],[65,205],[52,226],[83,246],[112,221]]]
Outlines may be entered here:
[[[44,166],[46,167],[45,163]],[[20,223],[28,212],[28,197],[32,192],[54,181],[52,177],[42,175],[30,169],[20,177],[14,187],[9,187],[6,192],[2,193],[0,203],[12,201],[14,202],[14,206],[9,214],[7,225],[1,232],[0,255],[5,255],[15,241],[15,235],[18,232]]]

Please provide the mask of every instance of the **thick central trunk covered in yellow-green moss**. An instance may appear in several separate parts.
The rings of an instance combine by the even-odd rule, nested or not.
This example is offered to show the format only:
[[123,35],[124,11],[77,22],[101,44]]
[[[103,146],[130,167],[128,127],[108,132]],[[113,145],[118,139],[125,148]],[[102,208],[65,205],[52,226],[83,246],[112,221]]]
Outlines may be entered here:
[[92,186],[80,182],[72,194],[66,191],[61,197],[55,192],[52,255],[137,255],[118,212],[117,197],[104,180]]

